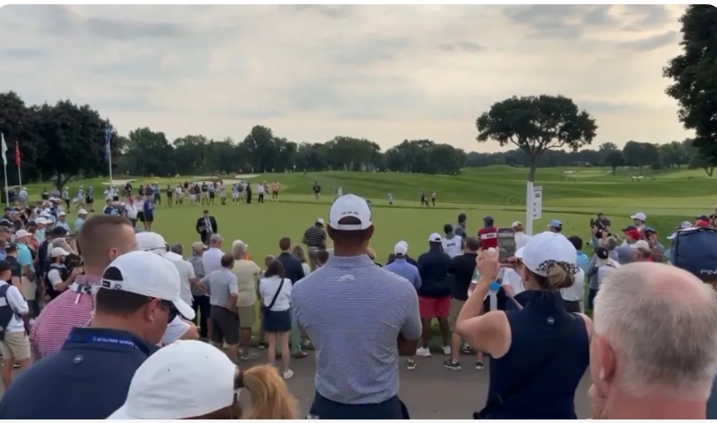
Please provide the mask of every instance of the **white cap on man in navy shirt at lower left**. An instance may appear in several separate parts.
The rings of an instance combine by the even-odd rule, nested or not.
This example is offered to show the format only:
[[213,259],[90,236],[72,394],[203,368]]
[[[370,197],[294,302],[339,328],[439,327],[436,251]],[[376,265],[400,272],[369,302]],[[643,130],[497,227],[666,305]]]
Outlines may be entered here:
[[100,288],[171,301],[184,319],[194,319],[194,310],[179,297],[180,286],[174,263],[150,251],[130,251],[105,268]]

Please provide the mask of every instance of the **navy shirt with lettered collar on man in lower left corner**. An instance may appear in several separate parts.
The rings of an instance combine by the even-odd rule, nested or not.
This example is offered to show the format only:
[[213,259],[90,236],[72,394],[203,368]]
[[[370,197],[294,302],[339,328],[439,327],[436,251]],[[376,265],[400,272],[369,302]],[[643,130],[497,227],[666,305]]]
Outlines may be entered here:
[[0,419],[107,419],[156,350],[128,331],[72,329],[60,351],[12,382],[0,399]]

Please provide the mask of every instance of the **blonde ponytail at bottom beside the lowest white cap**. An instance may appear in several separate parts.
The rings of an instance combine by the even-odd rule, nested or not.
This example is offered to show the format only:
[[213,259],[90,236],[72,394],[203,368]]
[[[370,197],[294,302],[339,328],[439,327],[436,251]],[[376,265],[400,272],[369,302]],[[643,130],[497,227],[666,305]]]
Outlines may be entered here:
[[262,364],[242,373],[244,388],[252,395],[252,404],[242,410],[242,419],[299,419],[298,402],[274,366]]

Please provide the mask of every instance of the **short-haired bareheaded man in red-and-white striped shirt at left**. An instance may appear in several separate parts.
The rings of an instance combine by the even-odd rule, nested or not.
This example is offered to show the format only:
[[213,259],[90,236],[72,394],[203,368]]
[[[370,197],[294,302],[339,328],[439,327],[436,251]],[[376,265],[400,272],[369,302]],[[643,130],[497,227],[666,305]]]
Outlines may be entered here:
[[48,303],[32,326],[33,361],[60,351],[73,328],[90,322],[103,271],[115,258],[133,251],[137,238],[129,220],[121,216],[94,215],[85,221],[77,243],[82,250],[85,273],[75,278],[70,289]]

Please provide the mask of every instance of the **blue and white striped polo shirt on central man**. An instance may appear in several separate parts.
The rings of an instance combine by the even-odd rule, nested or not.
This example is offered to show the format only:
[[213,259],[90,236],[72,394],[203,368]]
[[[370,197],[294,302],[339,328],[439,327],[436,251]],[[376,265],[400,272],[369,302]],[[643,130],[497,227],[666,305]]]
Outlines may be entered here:
[[369,256],[331,256],[293,286],[292,308],[316,351],[316,391],[341,404],[378,404],[399,392],[399,332],[421,336],[412,283]]

